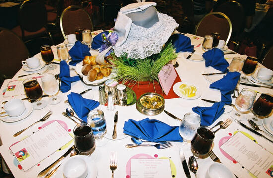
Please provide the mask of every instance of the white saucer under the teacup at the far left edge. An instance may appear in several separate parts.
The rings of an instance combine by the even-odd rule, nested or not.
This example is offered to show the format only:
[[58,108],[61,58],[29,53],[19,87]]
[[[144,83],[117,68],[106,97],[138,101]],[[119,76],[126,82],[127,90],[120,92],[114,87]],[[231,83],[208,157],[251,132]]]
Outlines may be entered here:
[[33,106],[32,103],[28,102],[28,101],[23,101],[26,107],[26,110],[24,111],[23,114],[21,114],[20,116],[5,116],[5,117],[0,117],[0,119],[4,122],[17,122],[19,120],[25,119],[26,117],[28,117],[32,111],[33,111]]

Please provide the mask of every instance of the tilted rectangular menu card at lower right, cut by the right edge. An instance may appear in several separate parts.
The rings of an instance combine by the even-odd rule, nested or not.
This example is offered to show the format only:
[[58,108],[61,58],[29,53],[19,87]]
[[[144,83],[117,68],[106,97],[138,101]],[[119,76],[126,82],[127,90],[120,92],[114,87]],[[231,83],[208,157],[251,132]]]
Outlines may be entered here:
[[237,132],[220,148],[257,178],[272,178],[273,154],[243,133]]

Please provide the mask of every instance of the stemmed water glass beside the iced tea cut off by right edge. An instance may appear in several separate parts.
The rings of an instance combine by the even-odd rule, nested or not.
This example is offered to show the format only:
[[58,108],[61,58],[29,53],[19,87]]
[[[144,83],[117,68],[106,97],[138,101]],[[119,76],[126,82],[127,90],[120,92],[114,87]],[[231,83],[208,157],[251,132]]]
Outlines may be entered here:
[[256,98],[256,92],[254,90],[243,88],[238,97],[235,100],[235,107],[238,111],[233,110],[231,112],[231,117],[236,120],[243,120],[241,112],[248,111]]

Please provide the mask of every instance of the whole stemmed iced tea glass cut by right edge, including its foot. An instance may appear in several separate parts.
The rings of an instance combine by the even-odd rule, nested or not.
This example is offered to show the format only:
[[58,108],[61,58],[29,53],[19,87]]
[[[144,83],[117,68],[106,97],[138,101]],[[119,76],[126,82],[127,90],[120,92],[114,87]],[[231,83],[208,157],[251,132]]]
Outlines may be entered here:
[[257,125],[262,125],[262,119],[267,118],[272,112],[273,95],[269,93],[262,93],[254,102],[252,109],[256,115],[255,118],[252,118],[253,121]]

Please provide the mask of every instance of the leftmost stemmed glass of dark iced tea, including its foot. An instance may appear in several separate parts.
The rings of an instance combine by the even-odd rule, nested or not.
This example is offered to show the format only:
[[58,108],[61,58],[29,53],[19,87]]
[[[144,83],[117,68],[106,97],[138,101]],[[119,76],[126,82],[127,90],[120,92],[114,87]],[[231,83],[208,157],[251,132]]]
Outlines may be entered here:
[[26,96],[31,100],[36,100],[33,102],[33,108],[35,110],[40,110],[44,108],[47,104],[45,101],[40,101],[39,98],[43,95],[43,90],[36,78],[27,78],[23,81]]

